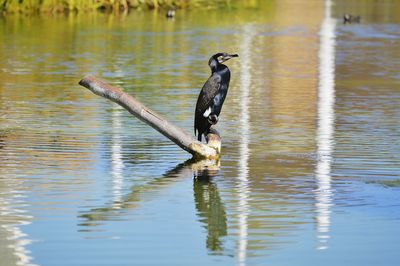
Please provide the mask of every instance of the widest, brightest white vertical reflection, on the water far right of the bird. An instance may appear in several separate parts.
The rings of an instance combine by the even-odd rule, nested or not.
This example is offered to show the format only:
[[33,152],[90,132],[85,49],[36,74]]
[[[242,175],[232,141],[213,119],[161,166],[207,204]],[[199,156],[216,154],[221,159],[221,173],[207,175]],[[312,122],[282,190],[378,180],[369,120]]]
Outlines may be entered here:
[[320,31],[318,128],[316,179],[316,212],[318,249],[328,248],[330,207],[332,205],[331,163],[335,103],[335,20],[331,17],[331,1],[325,1],[324,20]]

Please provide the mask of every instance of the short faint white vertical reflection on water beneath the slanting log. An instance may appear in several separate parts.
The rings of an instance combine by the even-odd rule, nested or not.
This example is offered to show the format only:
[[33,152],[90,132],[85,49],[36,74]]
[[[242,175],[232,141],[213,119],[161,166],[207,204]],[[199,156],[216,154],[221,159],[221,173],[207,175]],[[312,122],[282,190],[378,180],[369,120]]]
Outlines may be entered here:
[[111,175],[112,175],[112,193],[115,208],[120,207],[122,200],[122,170],[124,164],[122,161],[122,140],[121,140],[121,112],[120,107],[115,107],[112,112],[113,135],[111,139]]

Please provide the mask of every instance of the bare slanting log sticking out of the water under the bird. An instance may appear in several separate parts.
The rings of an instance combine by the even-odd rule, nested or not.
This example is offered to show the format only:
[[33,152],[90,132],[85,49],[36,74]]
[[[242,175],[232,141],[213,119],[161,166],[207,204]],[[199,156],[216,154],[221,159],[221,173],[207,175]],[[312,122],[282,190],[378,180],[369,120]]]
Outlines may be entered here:
[[208,136],[208,145],[205,145],[184,130],[172,125],[161,115],[141,104],[134,97],[126,94],[121,89],[113,87],[93,76],[86,76],[80,82],[94,94],[107,98],[128,110],[131,114],[150,125],[158,132],[169,138],[176,145],[198,158],[215,158],[219,156],[221,138],[216,130],[212,130]]

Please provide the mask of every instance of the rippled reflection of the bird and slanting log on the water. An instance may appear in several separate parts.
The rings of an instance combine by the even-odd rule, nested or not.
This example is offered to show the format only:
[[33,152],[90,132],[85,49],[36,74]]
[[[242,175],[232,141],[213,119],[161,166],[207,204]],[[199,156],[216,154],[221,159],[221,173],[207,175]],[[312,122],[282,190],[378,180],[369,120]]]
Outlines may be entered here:
[[[95,231],[91,227],[102,224],[103,221],[121,220],[132,209],[154,200],[157,194],[176,182],[195,175],[193,194],[198,220],[207,229],[206,246],[216,254],[224,251],[223,237],[228,234],[228,225],[224,203],[219,195],[218,187],[212,177],[219,171],[219,161],[187,160],[167,171],[162,177],[155,178],[142,185],[134,185],[131,191],[120,201],[107,203],[105,206],[92,208],[79,215],[80,232]],[[128,212],[128,210],[131,210]]]

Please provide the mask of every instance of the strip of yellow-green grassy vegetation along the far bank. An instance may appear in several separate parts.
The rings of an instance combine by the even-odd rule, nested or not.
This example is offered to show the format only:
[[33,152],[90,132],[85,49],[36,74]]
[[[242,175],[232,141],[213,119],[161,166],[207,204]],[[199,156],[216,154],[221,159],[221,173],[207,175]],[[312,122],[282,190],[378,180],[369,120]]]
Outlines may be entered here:
[[103,10],[127,12],[130,9],[217,7],[230,0],[0,0],[3,13],[67,13]]

